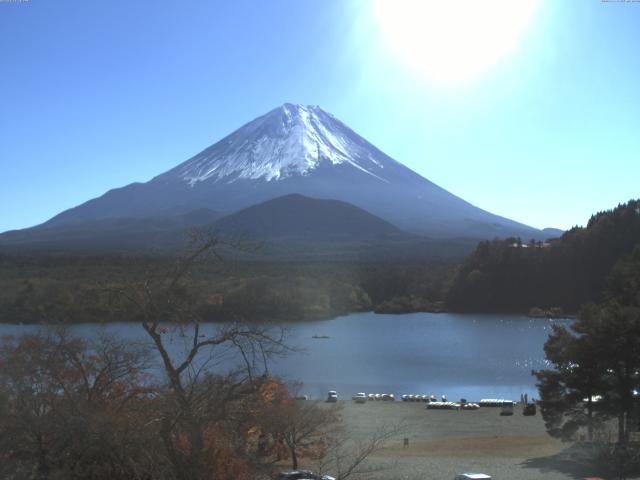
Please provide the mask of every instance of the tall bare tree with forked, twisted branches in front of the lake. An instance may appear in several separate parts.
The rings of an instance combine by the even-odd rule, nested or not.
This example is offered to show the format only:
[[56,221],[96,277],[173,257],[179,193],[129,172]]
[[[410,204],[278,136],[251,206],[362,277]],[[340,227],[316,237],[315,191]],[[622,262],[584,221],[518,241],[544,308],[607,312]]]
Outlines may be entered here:
[[[268,374],[271,357],[288,351],[282,329],[241,318],[203,327],[203,299],[191,288],[191,275],[202,262],[221,261],[222,248],[242,245],[194,235],[191,251],[169,271],[147,271],[141,280],[115,292],[136,312],[161,358],[168,395],[158,418],[159,432],[178,479],[211,478],[205,431],[225,418],[230,404],[255,391]],[[176,337],[184,346],[180,353],[170,349]]]

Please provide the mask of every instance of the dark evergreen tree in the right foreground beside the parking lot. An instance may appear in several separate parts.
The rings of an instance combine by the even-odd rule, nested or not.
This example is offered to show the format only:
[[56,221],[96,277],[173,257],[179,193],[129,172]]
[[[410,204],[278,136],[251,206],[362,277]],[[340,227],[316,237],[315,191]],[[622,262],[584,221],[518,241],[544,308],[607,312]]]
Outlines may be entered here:
[[614,267],[605,298],[584,307],[570,328],[554,327],[545,344],[554,368],[534,374],[551,435],[575,439],[586,429],[594,440],[606,420],[617,420],[617,444],[603,445],[602,455],[624,478],[638,461],[629,434],[640,427],[639,247]]

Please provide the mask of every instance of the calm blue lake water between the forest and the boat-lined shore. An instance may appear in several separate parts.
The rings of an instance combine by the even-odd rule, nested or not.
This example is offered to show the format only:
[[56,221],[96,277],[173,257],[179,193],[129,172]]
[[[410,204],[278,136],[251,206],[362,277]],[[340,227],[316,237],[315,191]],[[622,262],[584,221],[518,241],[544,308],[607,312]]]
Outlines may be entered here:
[[[277,359],[272,373],[303,382],[302,393],[341,398],[356,392],[447,395],[520,399],[537,397],[532,369],[545,367],[543,345],[554,324],[570,320],[530,319],[517,315],[358,313],[333,320],[289,325],[289,343],[304,349]],[[39,327],[0,325],[1,335],[19,335]],[[207,325],[207,329],[215,326]],[[138,324],[81,324],[82,337],[97,332],[145,341]],[[329,338],[314,339],[313,336]],[[171,348],[177,354],[181,340]]]

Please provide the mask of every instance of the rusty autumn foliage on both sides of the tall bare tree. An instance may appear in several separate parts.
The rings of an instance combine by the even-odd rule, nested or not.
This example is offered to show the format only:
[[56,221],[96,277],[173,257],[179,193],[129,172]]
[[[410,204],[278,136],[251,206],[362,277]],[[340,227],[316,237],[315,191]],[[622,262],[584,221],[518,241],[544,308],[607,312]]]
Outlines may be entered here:
[[[180,425],[171,389],[151,382],[151,364],[140,345],[113,337],[84,341],[58,331],[5,338],[0,476],[176,479],[176,462],[195,457],[203,459],[202,479],[269,478],[292,458],[315,458],[335,419],[294,400],[269,376],[209,374],[192,385],[193,395],[210,400],[195,410],[202,446],[194,455],[192,424]],[[163,439],[168,419],[174,451]]]

